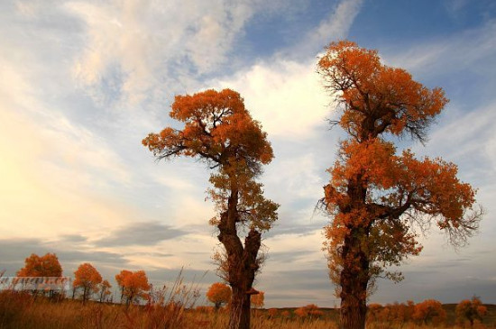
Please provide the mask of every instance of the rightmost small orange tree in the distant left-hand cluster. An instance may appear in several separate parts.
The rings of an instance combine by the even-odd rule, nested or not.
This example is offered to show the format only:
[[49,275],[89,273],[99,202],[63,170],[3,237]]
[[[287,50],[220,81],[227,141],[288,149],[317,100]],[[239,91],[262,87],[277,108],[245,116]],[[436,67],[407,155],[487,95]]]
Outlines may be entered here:
[[122,270],[115,276],[115,280],[121,288],[121,303],[124,298],[127,306],[140,299],[145,299],[148,296],[147,291],[152,288],[148,283],[148,278],[144,270],[136,270],[134,272]]

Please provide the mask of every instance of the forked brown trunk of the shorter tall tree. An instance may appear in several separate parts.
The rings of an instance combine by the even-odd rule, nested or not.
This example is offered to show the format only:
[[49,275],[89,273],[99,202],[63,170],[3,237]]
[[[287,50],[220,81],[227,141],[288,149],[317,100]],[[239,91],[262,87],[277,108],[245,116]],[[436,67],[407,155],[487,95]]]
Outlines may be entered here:
[[220,223],[217,225],[219,241],[227,253],[228,273],[227,280],[233,289],[231,297],[229,329],[250,328],[250,297],[253,294],[253,280],[259,269],[257,254],[260,249],[262,234],[251,229],[244,239],[244,246],[237,235],[236,222],[238,192],[231,189],[228,208],[221,214]]

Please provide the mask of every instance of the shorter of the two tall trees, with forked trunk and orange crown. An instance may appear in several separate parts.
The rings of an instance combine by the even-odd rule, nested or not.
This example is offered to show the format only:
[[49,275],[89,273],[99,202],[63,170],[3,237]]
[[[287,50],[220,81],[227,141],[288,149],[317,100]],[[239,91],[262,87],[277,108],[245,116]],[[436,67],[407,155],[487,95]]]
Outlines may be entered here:
[[262,195],[262,184],[255,180],[262,164],[273,158],[271,143],[243,98],[230,89],[176,96],[170,117],[184,123],[184,129],[167,127],[142,143],[158,159],[187,156],[215,169],[208,194],[217,215],[210,224],[216,225],[227,256],[225,279],[233,289],[229,328],[249,328],[262,232],[271,228],[279,207]]

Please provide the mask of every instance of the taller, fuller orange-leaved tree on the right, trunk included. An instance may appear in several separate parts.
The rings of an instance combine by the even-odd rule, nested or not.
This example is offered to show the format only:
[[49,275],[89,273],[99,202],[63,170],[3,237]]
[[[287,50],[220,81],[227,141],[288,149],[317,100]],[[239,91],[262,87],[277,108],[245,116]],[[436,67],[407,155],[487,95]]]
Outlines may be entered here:
[[338,101],[340,117],[331,123],[349,134],[320,203],[332,217],[325,228],[329,276],[344,328],[363,328],[375,279],[402,279],[384,268],[422,250],[415,229],[436,223],[460,246],[478,228],[482,208],[473,210],[475,190],[456,178],[455,164],[417,160],[410,150],[397,154],[389,142],[407,135],[426,141],[448,102],[441,88],[423,87],[351,41],[331,43],[317,71]]

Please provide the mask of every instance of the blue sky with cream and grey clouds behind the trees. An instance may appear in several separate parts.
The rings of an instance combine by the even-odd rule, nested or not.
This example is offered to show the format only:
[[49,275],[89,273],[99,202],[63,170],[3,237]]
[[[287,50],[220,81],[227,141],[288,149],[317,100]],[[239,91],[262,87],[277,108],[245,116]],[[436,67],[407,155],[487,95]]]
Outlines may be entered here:
[[[91,262],[104,279],[145,270],[158,285],[219,280],[207,224],[209,170],[156,161],[148,133],[176,126],[175,95],[229,87],[268,133],[261,178],[280,204],[263,238],[255,287],[265,306],[337,306],[321,250],[330,218],[314,212],[337,144],[319,54],[349,39],[409,70],[450,103],[418,156],[440,156],[478,188],[480,233],[455,250],[445,234],[379,280],[371,302],[477,295],[496,304],[496,3],[491,0],[18,0],[0,2],[0,270],[55,252],[72,276]],[[205,303],[201,297],[199,303]]]

